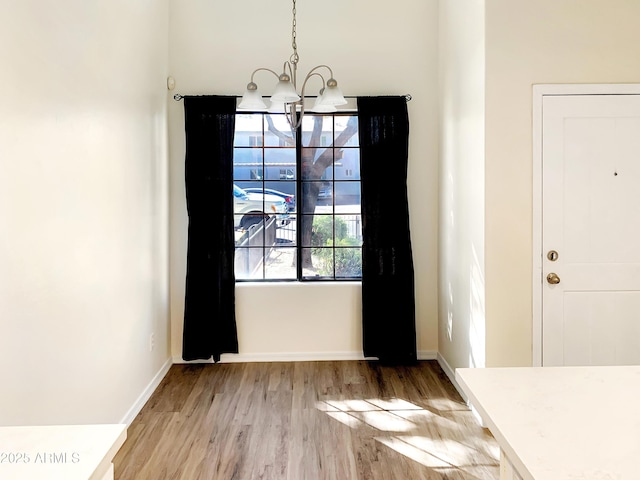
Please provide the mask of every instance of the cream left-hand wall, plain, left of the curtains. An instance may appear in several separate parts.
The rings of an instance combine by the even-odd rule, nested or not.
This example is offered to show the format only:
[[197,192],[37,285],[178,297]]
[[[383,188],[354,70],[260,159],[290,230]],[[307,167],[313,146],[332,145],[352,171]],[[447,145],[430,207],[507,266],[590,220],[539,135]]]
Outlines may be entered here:
[[169,358],[168,3],[2,11],[0,425],[119,422]]

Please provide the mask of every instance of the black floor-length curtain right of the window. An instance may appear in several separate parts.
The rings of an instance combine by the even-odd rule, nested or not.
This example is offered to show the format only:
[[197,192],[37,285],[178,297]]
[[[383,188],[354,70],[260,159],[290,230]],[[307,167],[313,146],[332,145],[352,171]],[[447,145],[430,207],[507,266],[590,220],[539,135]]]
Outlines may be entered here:
[[417,359],[407,163],[407,100],[358,97],[362,188],[362,330],[365,357]]

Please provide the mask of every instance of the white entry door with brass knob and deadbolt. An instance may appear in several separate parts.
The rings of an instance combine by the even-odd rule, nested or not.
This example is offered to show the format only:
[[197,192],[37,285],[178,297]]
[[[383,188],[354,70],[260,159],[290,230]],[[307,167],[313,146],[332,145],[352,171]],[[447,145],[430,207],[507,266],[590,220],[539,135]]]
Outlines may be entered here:
[[543,97],[541,246],[542,364],[640,364],[640,95]]

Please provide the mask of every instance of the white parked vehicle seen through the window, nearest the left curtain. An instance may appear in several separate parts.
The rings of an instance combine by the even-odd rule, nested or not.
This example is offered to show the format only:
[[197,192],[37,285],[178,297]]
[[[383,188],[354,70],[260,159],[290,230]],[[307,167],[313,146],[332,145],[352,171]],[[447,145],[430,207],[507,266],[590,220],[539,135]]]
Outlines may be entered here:
[[287,204],[282,198],[262,192],[247,192],[236,184],[233,185],[233,213],[234,225],[241,228],[249,228],[271,216],[275,216],[280,225],[289,222]]

